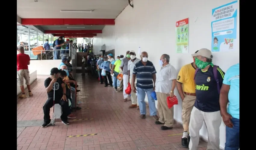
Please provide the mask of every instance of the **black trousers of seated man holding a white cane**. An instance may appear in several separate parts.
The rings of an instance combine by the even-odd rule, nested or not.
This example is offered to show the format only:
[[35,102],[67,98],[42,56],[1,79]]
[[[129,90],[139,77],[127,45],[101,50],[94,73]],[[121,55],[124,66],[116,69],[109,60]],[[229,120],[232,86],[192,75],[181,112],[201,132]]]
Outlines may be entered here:
[[[70,114],[70,109],[68,107],[68,102],[61,100],[61,98],[55,98],[54,104],[61,105],[62,108],[62,114],[61,114],[61,120],[67,121],[67,115]],[[53,98],[48,98],[48,100],[45,102],[45,105],[43,106],[44,111],[44,122],[50,123],[50,108],[53,107]]]

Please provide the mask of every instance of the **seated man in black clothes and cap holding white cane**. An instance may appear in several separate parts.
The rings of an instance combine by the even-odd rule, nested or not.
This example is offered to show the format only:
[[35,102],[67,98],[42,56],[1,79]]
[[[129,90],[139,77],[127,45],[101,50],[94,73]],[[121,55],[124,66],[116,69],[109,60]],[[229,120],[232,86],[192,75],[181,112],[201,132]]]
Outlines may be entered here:
[[48,100],[45,102],[43,106],[44,111],[44,123],[42,125],[43,128],[47,127],[50,122],[50,108],[53,107],[54,104],[61,105],[62,114],[61,120],[64,125],[69,125],[67,121],[67,116],[69,113],[68,101],[66,97],[66,87],[62,79],[60,78],[60,70],[58,68],[52,68],[50,77],[45,79],[45,90],[48,95]]

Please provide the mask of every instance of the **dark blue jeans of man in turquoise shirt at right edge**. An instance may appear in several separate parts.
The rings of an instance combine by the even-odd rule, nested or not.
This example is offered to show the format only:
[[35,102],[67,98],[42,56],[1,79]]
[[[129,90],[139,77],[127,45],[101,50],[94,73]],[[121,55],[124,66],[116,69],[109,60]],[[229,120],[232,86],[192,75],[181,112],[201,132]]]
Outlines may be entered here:
[[226,126],[226,143],[225,143],[225,150],[238,150],[239,145],[239,126],[240,121],[239,119],[232,118],[231,122],[233,123],[233,128],[229,128]]

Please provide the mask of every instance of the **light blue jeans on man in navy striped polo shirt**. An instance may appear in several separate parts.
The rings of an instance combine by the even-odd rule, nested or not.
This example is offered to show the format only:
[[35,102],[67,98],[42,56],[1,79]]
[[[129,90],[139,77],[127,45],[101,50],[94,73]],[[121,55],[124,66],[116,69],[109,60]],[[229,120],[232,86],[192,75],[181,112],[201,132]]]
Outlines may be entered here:
[[145,96],[147,93],[148,96],[148,105],[149,105],[149,113],[150,116],[156,115],[156,108],[155,108],[155,100],[151,97],[151,93],[153,88],[143,89],[137,87],[137,98],[139,101],[139,110],[141,115],[146,115],[146,103],[145,103]]

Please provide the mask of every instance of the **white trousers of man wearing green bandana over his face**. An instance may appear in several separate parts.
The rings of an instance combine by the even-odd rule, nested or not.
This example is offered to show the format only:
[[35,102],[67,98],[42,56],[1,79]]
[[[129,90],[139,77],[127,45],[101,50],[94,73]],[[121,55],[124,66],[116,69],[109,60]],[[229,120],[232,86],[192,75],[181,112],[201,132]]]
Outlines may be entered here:
[[189,123],[189,150],[197,150],[199,131],[203,126],[203,122],[208,133],[207,150],[220,150],[221,120],[220,111],[207,113],[193,107]]

